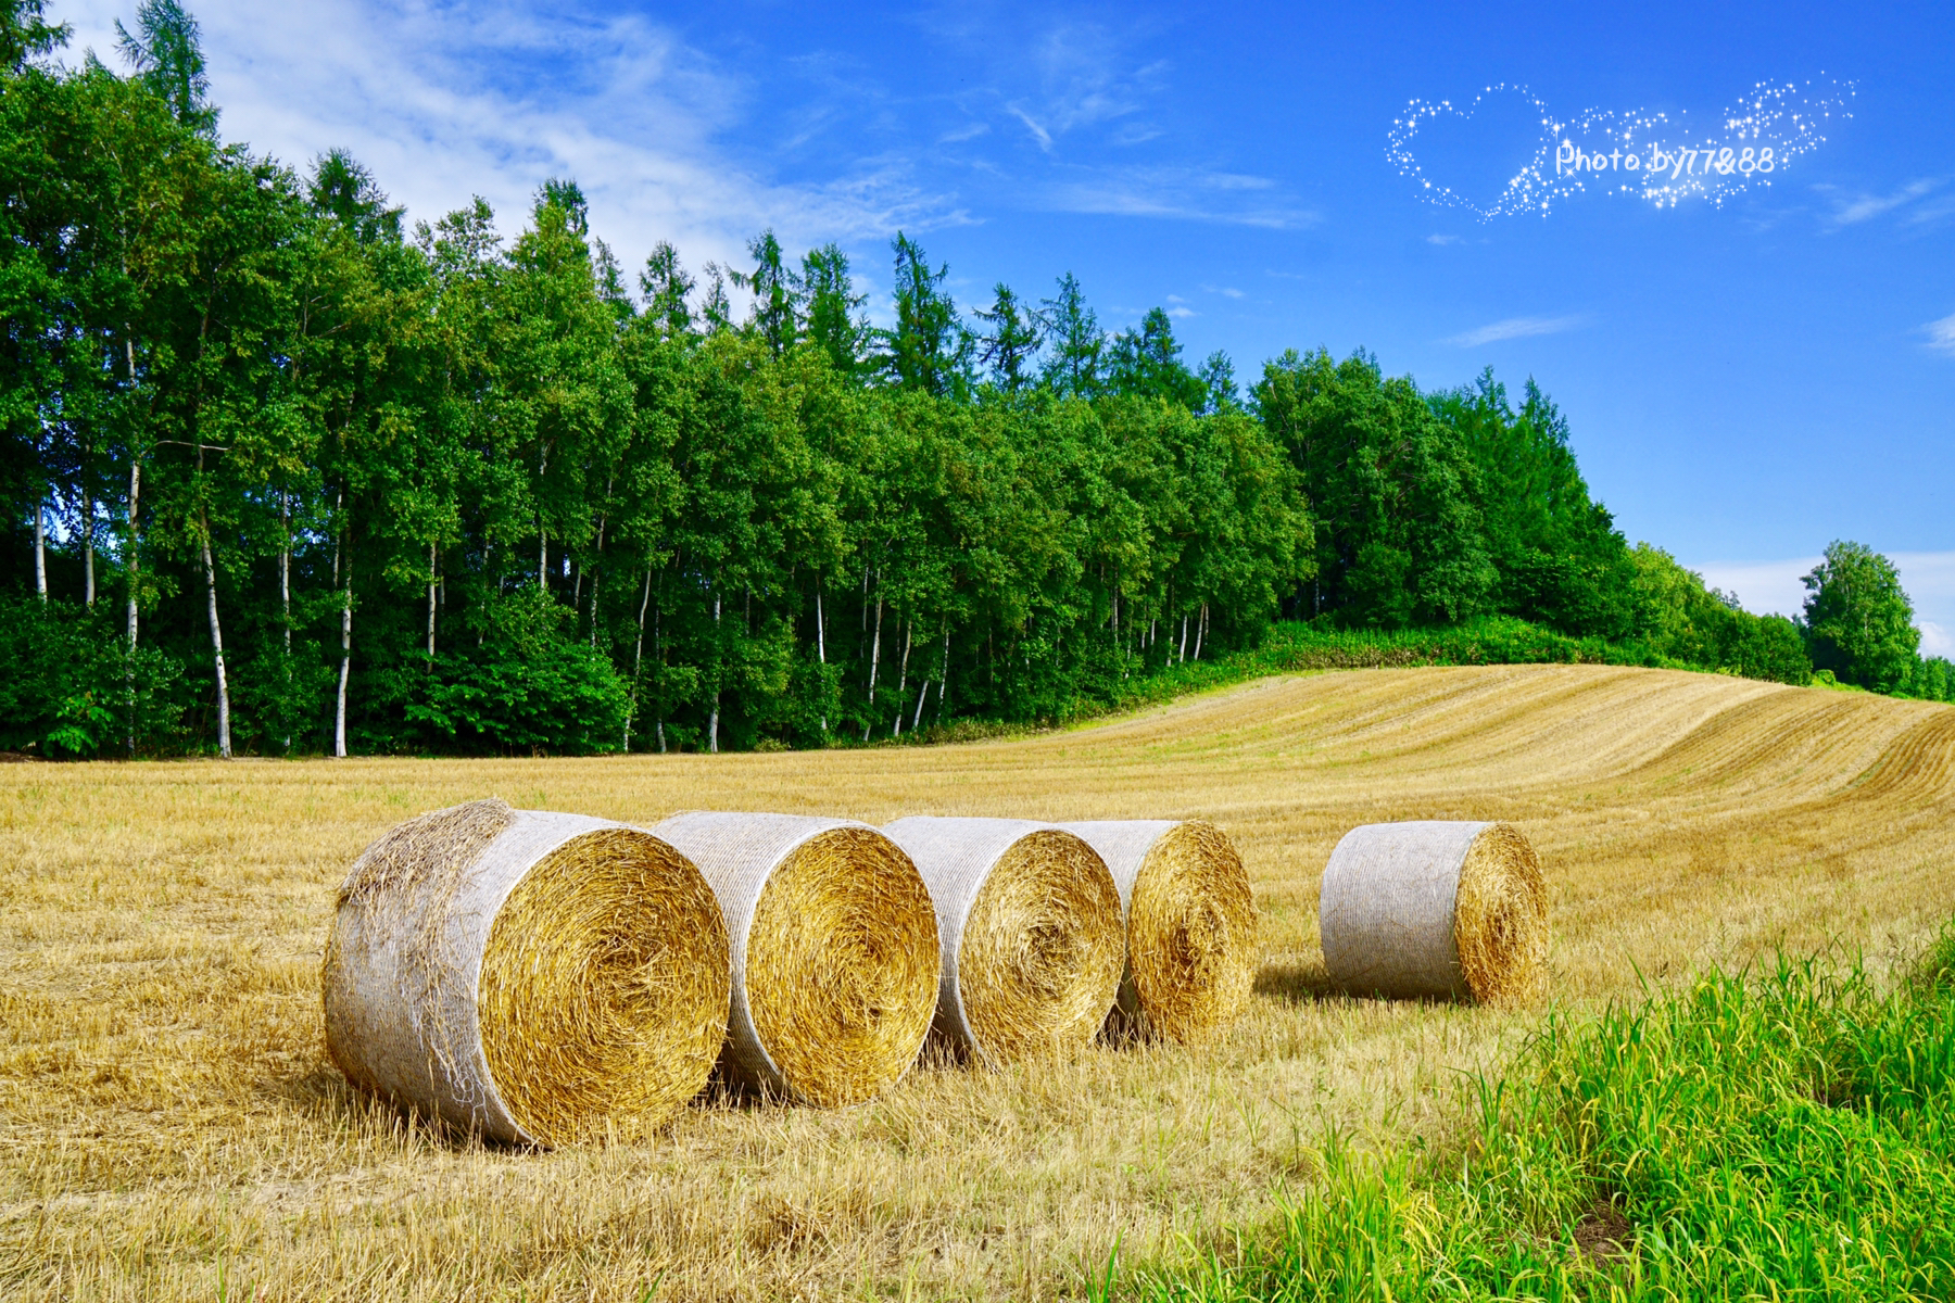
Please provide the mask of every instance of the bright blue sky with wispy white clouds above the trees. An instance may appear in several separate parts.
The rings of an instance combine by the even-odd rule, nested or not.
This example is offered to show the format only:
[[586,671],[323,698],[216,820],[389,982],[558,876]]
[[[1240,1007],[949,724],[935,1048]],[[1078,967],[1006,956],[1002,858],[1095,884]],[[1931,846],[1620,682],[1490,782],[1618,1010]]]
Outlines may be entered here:
[[[108,55],[133,0],[49,8],[72,57]],[[190,8],[227,139],[344,145],[416,219],[481,193],[514,229],[567,174],[628,264],[661,238],[739,264],[774,227],[839,240],[880,295],[903,229],[968,305],[1073,272],[1105,324],[1167,307],[1191,359],[1245,379],[1318,346],[1425,387],[1533,375],[1630,539],[1754,609],[1859,539],[1955,654],[1947,4]],[[1408,105],[1490,86],[1531,100],[1423,119],[1417,176],[1388,156]],[[1681,145],[1758,86],[1846,113],[1720,203],[1599,193],[1611,174],[1482,219],[1421,184],[1488,209],[1542,113],[1570,143],[1586,113],[1662,115],[1648,139]]]

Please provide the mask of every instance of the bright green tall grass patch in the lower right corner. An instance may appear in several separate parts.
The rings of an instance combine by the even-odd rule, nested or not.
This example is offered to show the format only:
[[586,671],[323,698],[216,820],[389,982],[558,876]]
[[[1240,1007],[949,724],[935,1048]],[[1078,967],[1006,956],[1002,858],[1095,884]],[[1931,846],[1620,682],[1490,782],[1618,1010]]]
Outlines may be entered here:
[[1881,992],[1783,963],[1552,1018],[1464,1153],[1361,1156],[1144,1297],[1947,1299],[1955,930]]

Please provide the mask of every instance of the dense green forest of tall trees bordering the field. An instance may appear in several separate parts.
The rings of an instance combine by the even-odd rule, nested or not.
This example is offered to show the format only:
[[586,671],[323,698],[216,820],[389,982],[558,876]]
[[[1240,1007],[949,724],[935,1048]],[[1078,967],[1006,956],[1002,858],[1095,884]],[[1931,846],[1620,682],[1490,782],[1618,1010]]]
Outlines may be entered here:
[[66,37],[0,0],[4,750],[860,744],[1277,621],[1951,695],[1859,545],[1801,621],[1630,547],[1533,379],[1241,385],[1069,273],[960,305],[907,234],[876,324],[835,244],[626,270],[573,180],[411,227],[346,152],[227,143],[176,0],[121,70]]

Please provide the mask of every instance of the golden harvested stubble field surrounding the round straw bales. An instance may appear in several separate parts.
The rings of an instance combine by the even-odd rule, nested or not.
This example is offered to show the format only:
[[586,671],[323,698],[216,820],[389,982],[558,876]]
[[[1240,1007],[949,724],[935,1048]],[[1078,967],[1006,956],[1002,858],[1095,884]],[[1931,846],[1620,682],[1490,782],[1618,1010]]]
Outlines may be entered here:
[[[698,1104],[655,1143],[508,1153],[325,1061],[332,893],[471,797],[676,809],[1206,817],[1263,918],[1220,1045],[925,1067],[823,1114]],[[1709,965],[1908,953],[1955,912],[1955,709],[1595,666],[1251,684],[944,748],[612,760],[0,766],[0,1293],[76,1299],[1079,1295],[1253,1227],[1337,1127],[1445,1143],[1529,1014],[1339,998],[1316,893],[1353,824],[1509,819],[1576,1014]],[[1642,979],[1638,979],[1638,971]]]

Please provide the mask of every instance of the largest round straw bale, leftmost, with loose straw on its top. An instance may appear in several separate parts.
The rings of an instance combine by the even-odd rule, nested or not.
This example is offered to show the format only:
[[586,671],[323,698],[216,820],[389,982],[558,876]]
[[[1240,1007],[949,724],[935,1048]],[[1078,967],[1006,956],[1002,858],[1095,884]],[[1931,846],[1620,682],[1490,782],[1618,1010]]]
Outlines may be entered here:
[[502,801],[368,846],[321,977],[354,1084],[514,1145],[649,1129],[725,1039],[727,936],[700,871],[647,832]]

